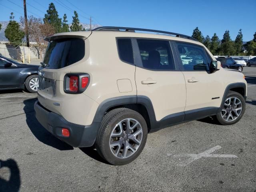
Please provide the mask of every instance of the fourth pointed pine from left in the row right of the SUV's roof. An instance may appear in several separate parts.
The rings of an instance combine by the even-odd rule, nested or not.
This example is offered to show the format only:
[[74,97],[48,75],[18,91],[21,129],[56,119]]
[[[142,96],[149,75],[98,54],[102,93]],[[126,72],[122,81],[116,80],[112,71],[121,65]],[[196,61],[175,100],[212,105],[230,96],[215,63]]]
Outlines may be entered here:
[[235,53],[234,42],[232,42],[229,30],[226,30],[221,40],[220,50],[224,55],[233,55]]

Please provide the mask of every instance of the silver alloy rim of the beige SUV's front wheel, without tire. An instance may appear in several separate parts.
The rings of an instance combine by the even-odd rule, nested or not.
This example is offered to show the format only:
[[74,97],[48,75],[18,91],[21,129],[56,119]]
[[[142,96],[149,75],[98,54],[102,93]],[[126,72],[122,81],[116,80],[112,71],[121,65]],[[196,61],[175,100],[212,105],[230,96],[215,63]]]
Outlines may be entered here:
[[242,102],[237,97],[229,97],[221,111],[222,118],[227,122],[236,120],[242,113]]

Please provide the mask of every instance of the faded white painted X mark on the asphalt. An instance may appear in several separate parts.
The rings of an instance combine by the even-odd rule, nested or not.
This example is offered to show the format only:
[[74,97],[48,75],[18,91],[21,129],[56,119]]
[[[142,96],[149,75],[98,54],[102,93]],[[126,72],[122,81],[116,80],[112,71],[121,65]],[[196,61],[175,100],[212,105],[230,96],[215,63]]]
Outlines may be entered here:
[[189,157],[188,160],[185,160],[182,163],[179,163],[179,166],[186,166],[190,163],[192,163],[195,160],[198,160],[202,157],[207,157],[207,158],[238,158],[238,156],[235,155],[230,155],[230,154],[211,154],[214,151],[220,149],[221,146],[217,145],[213,148],[210,148],[202,153],[199,154],[167,154],[167,156],[172,156],[172,157]]

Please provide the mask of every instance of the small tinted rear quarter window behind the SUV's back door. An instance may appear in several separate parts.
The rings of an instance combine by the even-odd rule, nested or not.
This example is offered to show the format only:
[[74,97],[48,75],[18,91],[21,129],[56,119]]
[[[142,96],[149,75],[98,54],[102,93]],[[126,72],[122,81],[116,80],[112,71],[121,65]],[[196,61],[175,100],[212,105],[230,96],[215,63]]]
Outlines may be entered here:
[[120,60],[134,64],[131,39],[117,39],[118,54]]

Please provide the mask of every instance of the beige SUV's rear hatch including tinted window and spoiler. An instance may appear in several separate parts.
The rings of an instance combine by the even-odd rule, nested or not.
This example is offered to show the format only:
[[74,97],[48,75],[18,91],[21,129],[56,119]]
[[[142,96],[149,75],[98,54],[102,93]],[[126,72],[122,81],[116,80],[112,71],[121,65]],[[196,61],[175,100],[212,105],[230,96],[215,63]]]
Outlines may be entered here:
[[[81,32],[74,32],[74,34]],[[69,34],[69,33],[65,33]],[[83,32],[88,34],[90,32]],[[48,47],[39,68],[38,101],[57,114],[62,114],[64,98],[64,76],[70,73],[72,64],[81,62],[85,56],[85,36],[54,35],[48,37]]]

